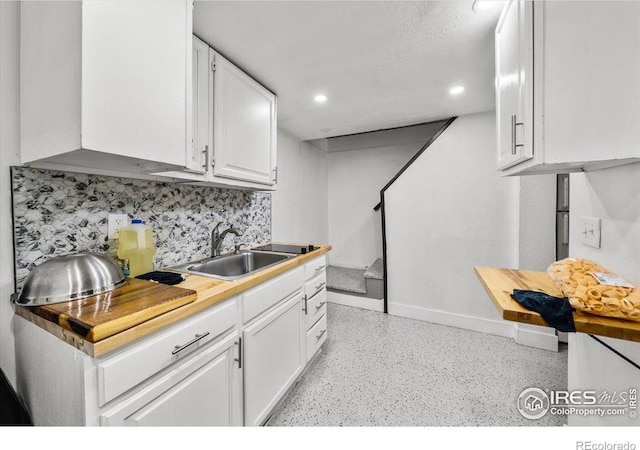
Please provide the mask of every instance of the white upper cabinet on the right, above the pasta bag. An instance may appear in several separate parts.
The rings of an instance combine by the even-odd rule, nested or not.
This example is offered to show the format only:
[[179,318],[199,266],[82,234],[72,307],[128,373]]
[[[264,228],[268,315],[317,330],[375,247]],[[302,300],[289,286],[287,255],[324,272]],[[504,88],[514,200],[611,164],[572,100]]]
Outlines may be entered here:
[[640,161],[640,3],[509,1],[496,28],[497,168]]

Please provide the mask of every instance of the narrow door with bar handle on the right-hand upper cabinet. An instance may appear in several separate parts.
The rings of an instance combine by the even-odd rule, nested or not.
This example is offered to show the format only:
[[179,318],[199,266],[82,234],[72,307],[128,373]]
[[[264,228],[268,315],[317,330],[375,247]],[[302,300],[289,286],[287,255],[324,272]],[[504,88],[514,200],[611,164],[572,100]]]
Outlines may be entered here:
[[533,157],[532,2],[509,1],[495,33],[498,169]]

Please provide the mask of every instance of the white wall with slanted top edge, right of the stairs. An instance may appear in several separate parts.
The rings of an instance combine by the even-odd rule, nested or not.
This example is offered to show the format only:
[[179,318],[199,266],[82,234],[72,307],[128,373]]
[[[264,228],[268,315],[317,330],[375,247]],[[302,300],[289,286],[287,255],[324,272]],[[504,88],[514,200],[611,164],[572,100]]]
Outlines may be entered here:
[[385,209],[389,313],[511,335],[473,272],[518,265],[519,180],[496,171],[495,113],[456,119]]

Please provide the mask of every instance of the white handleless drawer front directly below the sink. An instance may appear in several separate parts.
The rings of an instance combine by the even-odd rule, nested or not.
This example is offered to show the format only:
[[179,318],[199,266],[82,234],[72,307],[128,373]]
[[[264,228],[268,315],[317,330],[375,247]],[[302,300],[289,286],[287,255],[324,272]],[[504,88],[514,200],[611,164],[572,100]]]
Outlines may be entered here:
[[287,298],[304,284],[304,269],[297,267],[272,280],[248,290],[242,299],[242,320],[249,322],[254,317]]

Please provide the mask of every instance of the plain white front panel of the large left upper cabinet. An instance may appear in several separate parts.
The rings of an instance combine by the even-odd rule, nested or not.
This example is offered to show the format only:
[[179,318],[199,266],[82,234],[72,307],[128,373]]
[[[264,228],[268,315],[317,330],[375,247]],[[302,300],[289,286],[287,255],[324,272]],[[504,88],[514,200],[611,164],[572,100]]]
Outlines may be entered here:
[[185,165],[191,1],[82,2],[82,147]]

